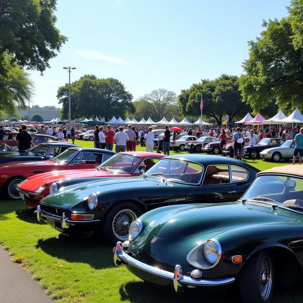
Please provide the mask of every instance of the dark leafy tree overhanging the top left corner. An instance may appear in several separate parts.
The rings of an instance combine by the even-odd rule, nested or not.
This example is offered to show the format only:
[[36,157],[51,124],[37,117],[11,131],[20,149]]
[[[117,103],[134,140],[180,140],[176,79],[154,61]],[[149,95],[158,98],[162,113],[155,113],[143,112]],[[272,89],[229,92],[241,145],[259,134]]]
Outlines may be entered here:
[[[67,38],[55,27],[56,0],[0,1],[0,63],[6,52],[20,67],[41,72],[49,68]],[[5,65],[0,74],[5,75]]]

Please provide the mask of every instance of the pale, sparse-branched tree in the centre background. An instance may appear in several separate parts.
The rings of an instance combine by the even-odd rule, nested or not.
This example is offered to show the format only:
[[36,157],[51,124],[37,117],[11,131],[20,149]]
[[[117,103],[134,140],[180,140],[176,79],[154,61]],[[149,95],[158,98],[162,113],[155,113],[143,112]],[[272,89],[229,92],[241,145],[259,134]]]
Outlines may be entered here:
[[177,104],[178,98],[175,92],[158,88],[138,98],[138,101],[140,100],[148,105],[146,116],[151,116],[159,121],[171,112],[173,105]]

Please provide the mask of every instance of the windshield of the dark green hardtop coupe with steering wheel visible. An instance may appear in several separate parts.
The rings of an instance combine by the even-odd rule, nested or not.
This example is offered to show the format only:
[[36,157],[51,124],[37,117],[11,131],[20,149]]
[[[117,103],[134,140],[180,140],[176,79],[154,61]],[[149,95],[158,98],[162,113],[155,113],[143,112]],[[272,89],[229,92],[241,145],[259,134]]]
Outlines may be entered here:
[[163,158],[150,168],[146,175],[161,174],[161,178],[172,182],[199,184],[203,167],[185,159]]

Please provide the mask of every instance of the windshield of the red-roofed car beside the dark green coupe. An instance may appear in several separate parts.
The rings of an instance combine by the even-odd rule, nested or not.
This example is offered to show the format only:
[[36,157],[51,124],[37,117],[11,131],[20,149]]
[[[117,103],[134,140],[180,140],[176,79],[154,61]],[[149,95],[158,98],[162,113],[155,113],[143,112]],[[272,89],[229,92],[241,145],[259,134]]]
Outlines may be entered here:
[[106,167],[111,171],[130,173],[137,166],[140,157],[126,154],[116,154],[99,165],[99,168]]

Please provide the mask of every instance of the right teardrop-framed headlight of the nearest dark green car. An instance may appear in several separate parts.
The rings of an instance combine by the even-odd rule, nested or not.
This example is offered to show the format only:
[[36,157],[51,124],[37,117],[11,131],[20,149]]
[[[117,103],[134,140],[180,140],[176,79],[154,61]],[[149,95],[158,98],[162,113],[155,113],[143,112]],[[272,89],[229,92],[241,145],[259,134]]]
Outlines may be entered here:
[[193,248],[187,255],[187,261],[195,268],[211,269],[219,263],[221,254],[219,241],[212,238]]

